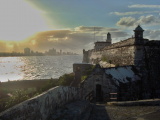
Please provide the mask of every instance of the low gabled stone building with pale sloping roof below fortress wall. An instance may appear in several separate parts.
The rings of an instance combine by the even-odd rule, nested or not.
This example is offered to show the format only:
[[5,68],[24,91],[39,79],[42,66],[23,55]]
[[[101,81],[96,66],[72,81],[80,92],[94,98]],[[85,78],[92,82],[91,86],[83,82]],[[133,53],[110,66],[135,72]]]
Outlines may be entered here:
[[[99,65],[96,65],[95,69],[92,73],[81,83],[81,87],[85,90],[84,96],[88,95],[90,92],[94,92],[94,97],[97,98],[96,85],[101,86],[101,94],[104,101],[109,101],[110,93],[118,93],[119,88],[124,86],[121,83],[129,83],[133,82],[130,87],[127,87],[123,92],[123,97],[126,97],[127,91],[129,88],[139,88],[140,86],[136,86],[134,81],[141,81],[142,74],[140,73],[139,67],[134,66],[120,66],[120,67],[112,67],[112,68],[101,68]],[[127,84],[127,86],[129,86]],[[136,87],[135,87],[136,86]],[[121,89],[121,91],[122,91]],[[137,89],[138,90],[138,89]],[[132,93],[129,93],[130,95]],[[121,95],[122,96],[122,95]],[[135,96],[134,96],[135,97]]]

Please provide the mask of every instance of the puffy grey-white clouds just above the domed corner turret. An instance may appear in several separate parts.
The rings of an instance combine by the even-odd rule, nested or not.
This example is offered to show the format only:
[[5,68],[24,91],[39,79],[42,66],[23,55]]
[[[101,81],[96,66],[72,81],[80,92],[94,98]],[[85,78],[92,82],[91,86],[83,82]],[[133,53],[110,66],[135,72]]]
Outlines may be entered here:
[[116,23],[117,26],[123,26],[123,27],[137,26],[138,24],[140,25],[159,25],[160,18],[155,17],[153,15],[141,16],[137,20],[133,17],[123,17],[123,18],[120,18],[120,20]]

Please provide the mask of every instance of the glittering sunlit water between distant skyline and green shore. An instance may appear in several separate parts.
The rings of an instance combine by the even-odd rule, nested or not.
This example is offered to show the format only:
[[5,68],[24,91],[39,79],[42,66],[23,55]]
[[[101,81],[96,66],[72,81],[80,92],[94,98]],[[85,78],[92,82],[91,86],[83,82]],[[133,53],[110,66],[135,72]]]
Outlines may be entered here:
[[73,72],[82,55],[0,57],[0,81],[58,78]]

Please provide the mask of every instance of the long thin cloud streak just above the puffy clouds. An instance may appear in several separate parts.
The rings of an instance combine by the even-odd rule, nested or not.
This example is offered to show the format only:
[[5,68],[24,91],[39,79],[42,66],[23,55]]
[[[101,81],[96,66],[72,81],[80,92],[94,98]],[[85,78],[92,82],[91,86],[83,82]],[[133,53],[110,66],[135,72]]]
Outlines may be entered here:
[[115,15],[135,15],[135,14],[144,14],[144,13],[155,13],[160,11],[135,11],[135,12],[111,12],[109,14],[115,14]]

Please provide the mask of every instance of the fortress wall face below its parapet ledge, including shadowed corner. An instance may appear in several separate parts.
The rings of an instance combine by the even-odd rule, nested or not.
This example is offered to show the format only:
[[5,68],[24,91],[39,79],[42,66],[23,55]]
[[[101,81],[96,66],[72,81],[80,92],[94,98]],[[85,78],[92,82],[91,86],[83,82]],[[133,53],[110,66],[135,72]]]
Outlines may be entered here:
[[[130,43],[130,42],[128,42]],[[102,57],[106,57],[107,62],[111,60],[112,64],[136,65],[144,66],[144,47],[143,45],[126,45],[116,47],[117,45],[108,46],[108,49],[103,51],[88,51],[86,61],[88,63],[96,64]]]

